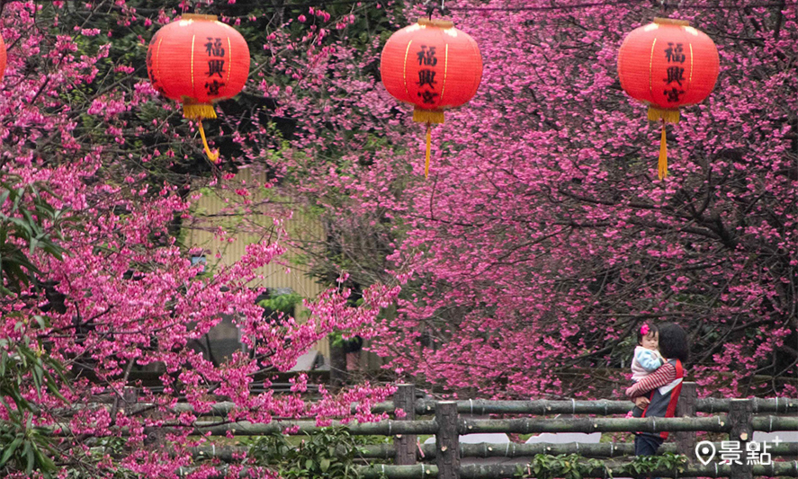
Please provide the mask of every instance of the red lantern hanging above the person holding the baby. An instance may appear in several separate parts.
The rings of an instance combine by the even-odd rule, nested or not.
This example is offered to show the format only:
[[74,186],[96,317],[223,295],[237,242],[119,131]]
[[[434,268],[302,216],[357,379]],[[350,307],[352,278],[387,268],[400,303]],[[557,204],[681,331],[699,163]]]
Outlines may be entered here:
[[618,54],[621,87],[649,105],[649,120],[662,121],[659,179],[668,175],[666,123],[677,123],[680,106],[704,101],[718,79],[713,40],[689,22],[655,18],[626,36]]

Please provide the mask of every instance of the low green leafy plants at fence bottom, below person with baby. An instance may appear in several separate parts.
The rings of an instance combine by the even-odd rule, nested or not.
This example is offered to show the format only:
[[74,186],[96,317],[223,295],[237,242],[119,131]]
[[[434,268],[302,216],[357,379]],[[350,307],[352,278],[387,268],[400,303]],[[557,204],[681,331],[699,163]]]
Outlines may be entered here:
[[582,479],[591,472],[603,470],[606,477],[612,478],[614,475],[639,476],[648,475],[654,471],[673,471],[684,472],[687,458],[673,453],[664,453],[659,456],[637,456],[632,461],[623,464],[616,469],[612,469],[601,459],[587,459],[578,454],[560,454],[550,456],[547,454],[537,454],[528,465],[516,466],[516,477],[527,479]]

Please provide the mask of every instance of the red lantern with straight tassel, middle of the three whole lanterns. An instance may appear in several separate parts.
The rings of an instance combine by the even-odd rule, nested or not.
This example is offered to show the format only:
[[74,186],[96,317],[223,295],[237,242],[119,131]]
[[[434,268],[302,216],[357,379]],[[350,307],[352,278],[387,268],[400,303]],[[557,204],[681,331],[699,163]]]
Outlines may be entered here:
[[415,105],[413,120],[426,122],[426,176],[431,124],[443,123],[444,111],[471,100],[480,86],[477,42],[453,22],[422,18],[390,36],[380,72],[388,93]]

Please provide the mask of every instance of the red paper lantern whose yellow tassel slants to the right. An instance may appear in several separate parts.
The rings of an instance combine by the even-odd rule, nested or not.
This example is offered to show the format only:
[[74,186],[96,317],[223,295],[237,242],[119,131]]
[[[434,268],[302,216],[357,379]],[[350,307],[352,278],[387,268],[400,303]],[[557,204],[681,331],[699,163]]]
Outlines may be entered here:
[[215,15],[184,14],[161,28],[147,50],[149,81],[158,92],[183,103],[183,115],[198,120],[205,153],[215,161],[202,119],[216,118],[213,103],[232,98],[249,75],[247,41]]

